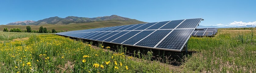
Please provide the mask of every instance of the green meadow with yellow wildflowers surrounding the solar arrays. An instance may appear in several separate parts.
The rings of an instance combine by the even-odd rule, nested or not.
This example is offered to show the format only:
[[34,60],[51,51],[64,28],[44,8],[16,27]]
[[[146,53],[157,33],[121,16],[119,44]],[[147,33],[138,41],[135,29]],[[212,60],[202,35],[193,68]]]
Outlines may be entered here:
[[[1,72],[92,72],[92,73],[170,73],[170,72],[256,72],[256,31],[218,30],[214,37],[191,37],[189,54],[181,63],[152,61],[152,53],[128,56],[125,48],[114,48],[73,40],[53,34],[22,33],[24,40],[0,42]],[[5,35],[20,33],[0,32]],[[5,38],[5,37],[4,37]],[[14,39],[14,40],[13,40]],[[110,47],[111,48],[111,47]],[[142,58],[141,58],[142,57]],[[151,60],[151,61],[150,61]]]

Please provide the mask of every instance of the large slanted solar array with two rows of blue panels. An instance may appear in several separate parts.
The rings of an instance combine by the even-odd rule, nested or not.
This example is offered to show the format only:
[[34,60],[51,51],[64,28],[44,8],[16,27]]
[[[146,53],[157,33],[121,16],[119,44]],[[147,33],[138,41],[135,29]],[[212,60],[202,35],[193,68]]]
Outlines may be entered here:
[[202,18],[113,26],[56,33],[86,40],[181,51]]

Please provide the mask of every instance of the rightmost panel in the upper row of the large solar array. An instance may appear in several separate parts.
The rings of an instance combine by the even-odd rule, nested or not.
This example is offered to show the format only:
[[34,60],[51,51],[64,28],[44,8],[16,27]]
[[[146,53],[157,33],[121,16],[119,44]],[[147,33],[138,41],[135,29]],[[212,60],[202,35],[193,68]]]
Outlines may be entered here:
[[178,27],[179,28],[196,28],[197,24],[199,24],[200,20],[202,18],[198,18],[198,19],[186,19],[185,21],[183,21]]

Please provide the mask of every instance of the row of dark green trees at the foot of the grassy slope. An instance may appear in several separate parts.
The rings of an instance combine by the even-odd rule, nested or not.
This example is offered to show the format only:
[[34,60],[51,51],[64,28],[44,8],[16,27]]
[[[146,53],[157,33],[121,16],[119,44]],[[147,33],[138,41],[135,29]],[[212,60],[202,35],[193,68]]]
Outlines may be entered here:
[[[22,32],[22,31],[19,28],[13,28],[13,29],[10,29],[10,31],[7,28],[4,28],[3,32]],[[63,30],[56,31],[55,29],[47,30],[47,28],[43,27],[43,26],[40,26],[39,30],[31,30],[31,27],[27,26],[26,30],[24,32],[27,32],[27,33],[59,33],[59,32],[65,32],[65,31],[63,31]]]

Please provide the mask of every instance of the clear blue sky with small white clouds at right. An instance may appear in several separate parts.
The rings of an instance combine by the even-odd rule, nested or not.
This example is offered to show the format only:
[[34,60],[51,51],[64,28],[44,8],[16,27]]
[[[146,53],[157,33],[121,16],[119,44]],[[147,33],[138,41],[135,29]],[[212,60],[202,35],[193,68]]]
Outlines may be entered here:
[[1,0],[0,25],[53,16],[111,15],[144,22],[203,18],[200,23],[203,26],[256,25],[255,3],[253,0]]

